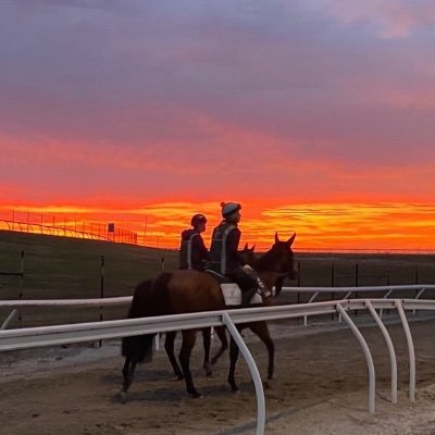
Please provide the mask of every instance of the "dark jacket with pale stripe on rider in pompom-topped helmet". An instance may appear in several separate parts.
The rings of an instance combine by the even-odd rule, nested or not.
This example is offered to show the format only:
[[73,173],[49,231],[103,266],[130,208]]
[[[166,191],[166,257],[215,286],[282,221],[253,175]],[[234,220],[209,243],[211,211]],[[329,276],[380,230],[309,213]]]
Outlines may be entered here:
[[244,260],[238,254],[240,229],[236,224],[222,221],[213,231],[210,246],[210,269],[223,275],[234,275]]

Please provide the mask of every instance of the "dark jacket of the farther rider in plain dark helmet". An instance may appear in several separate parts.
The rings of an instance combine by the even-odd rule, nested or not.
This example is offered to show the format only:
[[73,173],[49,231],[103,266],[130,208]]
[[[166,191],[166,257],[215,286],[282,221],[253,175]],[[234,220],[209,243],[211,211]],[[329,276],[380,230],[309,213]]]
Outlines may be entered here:
[[179,269],[204,271],[209,261],[209,251],[201,235],[196,229],[185,229],[182,233],[179,246]]

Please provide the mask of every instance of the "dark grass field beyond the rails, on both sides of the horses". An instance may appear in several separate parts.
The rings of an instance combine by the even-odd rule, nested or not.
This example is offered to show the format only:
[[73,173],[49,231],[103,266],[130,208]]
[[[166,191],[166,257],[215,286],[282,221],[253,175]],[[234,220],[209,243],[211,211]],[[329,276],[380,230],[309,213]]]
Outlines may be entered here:
[[[46,235],[0,232],[0,272],[18,272],[24,251],[24,282],[0,275],[0,299],[98,298],[104,257],[104,297],[129,296],[137,283],[177,266],[177,251],[133,245]],[[435,284],[435,256],[296,253],[299,279],[293,286],[369,286]],[[163,262],[162,262],[163,260]],[[413,295],[398,294],[397,297]],[[294,295],[283,302],[303,302],[310,295]],[[324,296],[326,297],[326,296]],[[425,297],[435,297],[431,293]],[[0,309],[0,323],[10,310]],[[24,326],[99,319],[96,308],[22,311]],[[104,319],[125,316],[126,308],[104,309]],[[16,326],[11,324],[11,327]]]

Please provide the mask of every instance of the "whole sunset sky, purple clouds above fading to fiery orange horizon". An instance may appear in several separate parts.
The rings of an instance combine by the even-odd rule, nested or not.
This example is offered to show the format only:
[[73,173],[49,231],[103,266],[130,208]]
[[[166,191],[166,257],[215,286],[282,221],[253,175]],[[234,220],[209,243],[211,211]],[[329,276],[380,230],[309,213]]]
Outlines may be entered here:
[[433,0],[1,0],[0,219],[433,249],[434,47]]

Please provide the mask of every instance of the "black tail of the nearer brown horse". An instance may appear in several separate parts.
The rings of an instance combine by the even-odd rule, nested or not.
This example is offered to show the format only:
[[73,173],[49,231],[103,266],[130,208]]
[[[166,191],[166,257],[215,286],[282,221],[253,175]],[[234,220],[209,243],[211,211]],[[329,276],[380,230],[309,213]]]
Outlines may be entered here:
[[[171,314],[167,304],[170,273],[161,274],[156,281],[147,279],[138,284],[128,311],[128,319]],[[136,362],[150,361],[152,339],[156,334],[123,337],[122,356]]]

